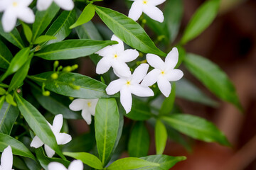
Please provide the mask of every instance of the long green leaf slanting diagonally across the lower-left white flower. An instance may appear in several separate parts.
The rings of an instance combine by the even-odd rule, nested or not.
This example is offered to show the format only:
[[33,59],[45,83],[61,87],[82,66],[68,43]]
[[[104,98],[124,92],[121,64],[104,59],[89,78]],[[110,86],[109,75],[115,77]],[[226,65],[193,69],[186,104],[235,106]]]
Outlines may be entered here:
[[25,118],[29,127],[36,133],[44,144],[55,150],[60,157],[65,158],[57,145],[55,135],[53,135],[53,131],[50,130],[46,118],[44,118],[43,115],[31,105],[31,103],[16,93],[15,98],[16,102],[18,103],[18,109],[21,111],[21,114]]

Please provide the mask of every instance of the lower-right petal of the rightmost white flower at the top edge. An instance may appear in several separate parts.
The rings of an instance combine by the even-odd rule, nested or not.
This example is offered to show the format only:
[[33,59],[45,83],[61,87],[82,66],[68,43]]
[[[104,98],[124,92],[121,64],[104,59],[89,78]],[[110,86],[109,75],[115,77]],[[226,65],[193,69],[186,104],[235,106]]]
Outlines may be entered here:
[[156,6],[145,6],[143,11],[147,16],[149,16],[149,18],[159,21],[160,23],[164,22],[164,14]]

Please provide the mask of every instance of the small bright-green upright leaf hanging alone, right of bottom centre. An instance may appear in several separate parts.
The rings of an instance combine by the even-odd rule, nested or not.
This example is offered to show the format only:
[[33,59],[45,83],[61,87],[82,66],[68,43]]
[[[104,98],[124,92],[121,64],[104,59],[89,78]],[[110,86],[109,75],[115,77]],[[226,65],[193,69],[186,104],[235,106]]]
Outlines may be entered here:
[[155,140],[156,140],[156,154],[163,154],[167,142],[167,131],[164,123],[161,120],[156,120]]

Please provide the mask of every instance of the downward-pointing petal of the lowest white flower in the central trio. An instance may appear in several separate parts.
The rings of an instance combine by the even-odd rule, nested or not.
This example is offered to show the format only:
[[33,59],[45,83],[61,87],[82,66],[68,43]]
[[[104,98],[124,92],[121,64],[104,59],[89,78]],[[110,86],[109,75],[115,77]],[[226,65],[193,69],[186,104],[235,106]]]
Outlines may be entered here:
[[129,113],[132,108],[132,94],[127,88],[120,91],[120,101],[126,113]]

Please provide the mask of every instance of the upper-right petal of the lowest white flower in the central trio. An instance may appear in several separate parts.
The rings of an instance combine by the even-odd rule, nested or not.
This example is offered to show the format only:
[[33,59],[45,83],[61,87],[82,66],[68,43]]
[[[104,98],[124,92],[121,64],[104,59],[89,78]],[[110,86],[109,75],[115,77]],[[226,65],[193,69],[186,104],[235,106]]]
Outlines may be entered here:
[[144,77],[146,76],[148,69],[149,64],[140,64],[139,67],[137,67],[134,70],[134,73],[132,74],[132,84],[139,84],[142,81],[142,79],[144,79]]

